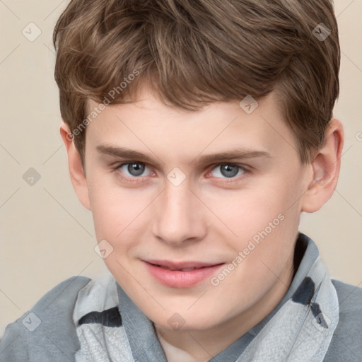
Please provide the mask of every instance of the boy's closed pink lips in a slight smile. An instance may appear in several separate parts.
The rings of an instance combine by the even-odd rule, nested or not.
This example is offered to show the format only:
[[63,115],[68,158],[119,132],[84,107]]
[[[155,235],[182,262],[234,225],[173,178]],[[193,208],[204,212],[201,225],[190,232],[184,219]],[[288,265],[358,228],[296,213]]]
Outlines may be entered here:
[[148,272],[158,282],[173,288],[189,288],[215,274],[225,263],[170,262],[168,260],[143,260]]

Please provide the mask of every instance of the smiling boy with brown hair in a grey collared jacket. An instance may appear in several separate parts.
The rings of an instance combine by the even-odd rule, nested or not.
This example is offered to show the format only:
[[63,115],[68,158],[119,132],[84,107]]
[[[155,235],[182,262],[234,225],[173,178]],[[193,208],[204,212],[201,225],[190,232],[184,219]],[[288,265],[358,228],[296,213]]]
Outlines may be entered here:
[[8,325],[1,361],[361,361],[362,289],[298,232],[339,175],[325,0],[73,0],[60,128],[110,274]]

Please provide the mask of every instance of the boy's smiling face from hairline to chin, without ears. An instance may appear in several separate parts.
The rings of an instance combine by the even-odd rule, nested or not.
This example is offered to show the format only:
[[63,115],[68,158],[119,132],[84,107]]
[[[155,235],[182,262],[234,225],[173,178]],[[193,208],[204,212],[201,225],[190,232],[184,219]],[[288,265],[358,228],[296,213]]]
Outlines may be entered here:
[[273,93],[247,114],[238,102],[178,110],[143,91],[88,125],[95,234],[148,318],[207,329],[288,285],[310,176],[296,148]]

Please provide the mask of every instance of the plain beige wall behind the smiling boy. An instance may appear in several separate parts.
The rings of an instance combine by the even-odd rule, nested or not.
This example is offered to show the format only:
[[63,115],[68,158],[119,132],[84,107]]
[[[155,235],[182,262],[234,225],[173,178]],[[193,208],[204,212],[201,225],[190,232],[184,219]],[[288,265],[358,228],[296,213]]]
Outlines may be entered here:
[[[0,333],[50,288],[72,275],[106,271],[94,251],[91,213],[71,186],[59,135],[52,30],[68,0],[0,1],[1,255]],[[320,247],[332,277],[362,283],[362,0],[336,0],[341,40],[341,94],[334,115],[344,123],[339,184],[300,231]],[[41,34],[35,36],[35,23]],[[29,30],[31,28],[31,33]],[[322,64],[320,66],[323,66]],[[23,174],[35,168],[33,186]]]

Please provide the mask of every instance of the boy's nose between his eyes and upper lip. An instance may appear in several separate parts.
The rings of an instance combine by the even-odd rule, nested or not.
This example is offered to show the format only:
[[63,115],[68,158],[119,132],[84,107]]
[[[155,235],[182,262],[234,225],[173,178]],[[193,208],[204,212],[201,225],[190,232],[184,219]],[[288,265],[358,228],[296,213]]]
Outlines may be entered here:
[[187,179],[178,186],[166,180],[156,200],[153,235],[173,246],[202,240],[207,230],[204,214],[205,206],[189,188]]

